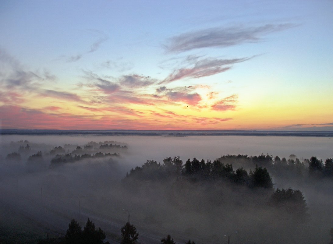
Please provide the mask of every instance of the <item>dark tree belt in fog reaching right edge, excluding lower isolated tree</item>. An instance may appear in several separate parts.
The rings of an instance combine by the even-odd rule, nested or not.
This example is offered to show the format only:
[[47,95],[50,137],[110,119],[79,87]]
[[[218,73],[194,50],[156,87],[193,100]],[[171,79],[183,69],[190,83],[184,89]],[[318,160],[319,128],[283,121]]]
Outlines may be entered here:
[[[254,167],[249,173],[243,168],[233,169],[234,165],[244,165]],[[299,176],[327,176],[333,177],[333,159],[327,158],[325,163],[321,159],[313,156],[310,159],[304,159],[302,162],[295,156],[280,159],[272,157],[270,154],[261,154],[259,156],[248,155],[223,155],[213,162],[207,159],[196,158],[188,159],[185,163],[178,157],[166,157],[163,164],[155,160],[147,160],[142,167],[137,166],[127,173],[126,177],[147,179],[166,179],[170,176],[188,177],[192,180],[211,180],[222,178],[237,184],[245,184],[249,187],[271,188],[271,176],[273,174],[295,174]],[[308,172],[308,174],[306,174]]]

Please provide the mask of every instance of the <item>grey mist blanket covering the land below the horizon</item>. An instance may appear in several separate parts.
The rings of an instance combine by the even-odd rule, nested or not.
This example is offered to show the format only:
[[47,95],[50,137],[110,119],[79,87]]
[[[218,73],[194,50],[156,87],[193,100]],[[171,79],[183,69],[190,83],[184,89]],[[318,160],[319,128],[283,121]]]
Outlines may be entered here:
[[[329,242],[333,180],[311,174],[308,167],[313,156],[323,165],[332,158],[330,137],[77,134],[2,135],[0,139],[2,228],[20,229],[31,221],[38,233],[63,234],[72,218],[84,223],[90,217],[111,243],[119,243],[120,226],[128,218],[122,210],[137,208],[131,212],[131,223],[142,234],[141,243],[157,243],[166,234],[177,243],[188,239],[226,243],[224,235],[235,231],[231,243]],[[244,156],[235,159],[227,154]],[[272,163],[260,165],[260,155],[272,155]],[[165,174],[164,159],[174,156],[182,160],[183,172],[188,159],[192,164],[194,158],[204,159],[205,165],[217,159],[224,166],[232,165],[233,171],[242,167],[249,178],[235,184],[234,176],[230,180],[225,175],[211,179],[182,171]],[[282,162],[285,158],[285,168],[274,166],[275,156]],[[147,163],[153,167],[141,167]],[[159,163],[160,169],[154,168]],[[273,188],[253,186],[250,172],[255,172],[256,164],[267,168]],[[145,173],[134,177],[131,169],[136,167]],[[287,205],[272,204],[273,192],[289,187],[304,195],[304,216],[289,205],[286,210]],[[11,219],[13,214],[18,218]]]

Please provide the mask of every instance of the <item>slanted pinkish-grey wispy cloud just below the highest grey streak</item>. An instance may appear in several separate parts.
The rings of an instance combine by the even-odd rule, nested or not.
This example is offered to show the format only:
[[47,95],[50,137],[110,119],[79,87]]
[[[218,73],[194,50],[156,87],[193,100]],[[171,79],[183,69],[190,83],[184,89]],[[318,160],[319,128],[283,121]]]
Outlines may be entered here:
[[238,58],[238,59],[216,59],[205,58],[201,60],[195,60],[194,65],[190,68],[181,68],[175,70],[165,80],[159,84],[170,83],[176,80],[185,78],[200,78],[205,76],[215,75],[231,69],[233,64],[244,62],[250,58]]

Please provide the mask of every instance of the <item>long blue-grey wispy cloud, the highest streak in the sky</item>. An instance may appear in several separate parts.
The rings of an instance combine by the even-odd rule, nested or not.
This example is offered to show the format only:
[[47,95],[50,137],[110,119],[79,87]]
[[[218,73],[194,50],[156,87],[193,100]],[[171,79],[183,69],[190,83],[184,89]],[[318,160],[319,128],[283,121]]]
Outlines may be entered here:
[[256,43],[262,40],[262,36],[271,32],[282,31],[294,24],[266,24],[261,26],[233,26],[228,28],[216,27],[200,31],[187,32],[174,36],[168,40],[166,51],[180,53],[193,49],[207,47],[228,47],[242,43]]

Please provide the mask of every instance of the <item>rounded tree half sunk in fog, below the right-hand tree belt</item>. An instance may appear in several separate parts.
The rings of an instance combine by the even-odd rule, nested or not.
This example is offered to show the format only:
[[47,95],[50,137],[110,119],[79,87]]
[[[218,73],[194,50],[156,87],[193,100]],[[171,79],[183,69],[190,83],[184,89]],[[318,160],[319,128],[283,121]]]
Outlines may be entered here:
[[271,196],[271,202],[294,218],[304,220],[309,216],[304,195],[300,190],[293,190],[290,187],[286,190],[277,188]]

